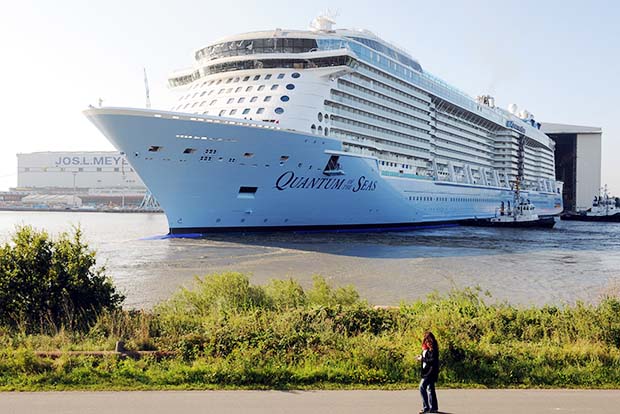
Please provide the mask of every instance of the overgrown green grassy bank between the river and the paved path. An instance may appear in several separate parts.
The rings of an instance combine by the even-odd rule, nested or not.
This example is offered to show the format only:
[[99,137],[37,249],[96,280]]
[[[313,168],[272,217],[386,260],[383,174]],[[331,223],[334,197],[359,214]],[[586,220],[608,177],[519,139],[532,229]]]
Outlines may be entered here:
[[[254,286],[211,275],[153,311],[101,312],[87,329],[0,331],[0,389],[401,388],[418,382],[422,333],[447,387],[620,387],[620,300],[514,307],[475,289],[374,309],[317,277]],[[42,350],[169,350],[176,356],[35,355]]]

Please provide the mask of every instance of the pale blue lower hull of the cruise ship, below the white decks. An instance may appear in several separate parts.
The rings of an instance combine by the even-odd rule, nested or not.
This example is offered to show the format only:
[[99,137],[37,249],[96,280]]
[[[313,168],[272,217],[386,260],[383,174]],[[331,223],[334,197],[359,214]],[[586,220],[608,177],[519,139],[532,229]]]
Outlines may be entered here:
[[[86,111],[164,209],[170,232],[405,230],[494,217],[507,188],[382,171],[340,141],[264,124],[121,108]],[[338,157],[338,170],[325,171]],[[539,215],[561,195],[524,192]]]

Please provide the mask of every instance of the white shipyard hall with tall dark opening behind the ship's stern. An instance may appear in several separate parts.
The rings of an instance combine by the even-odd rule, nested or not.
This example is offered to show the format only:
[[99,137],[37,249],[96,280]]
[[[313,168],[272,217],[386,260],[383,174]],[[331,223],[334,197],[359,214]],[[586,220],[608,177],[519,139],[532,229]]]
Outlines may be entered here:
[[556,179],[564,182],[564,211],[592,207],[601,188],[601,144],[598,127],[543,123],[542,131],[555,142]]

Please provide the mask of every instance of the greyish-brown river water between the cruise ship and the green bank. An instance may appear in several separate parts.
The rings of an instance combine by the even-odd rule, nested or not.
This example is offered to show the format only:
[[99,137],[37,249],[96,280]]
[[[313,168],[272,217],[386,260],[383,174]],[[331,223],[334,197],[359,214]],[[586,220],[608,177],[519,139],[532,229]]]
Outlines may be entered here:
[[620,224],[558,222],[552,230],[450,227],[402,233],[218,235],[171,239],[163,214],[0,212],[0,241],[17,225],[49,233],[80,225],[100,264],[147,308],[194,277],[241,271],[254,283],[313,274],[392,305],[480,286],[515,304],[596,301],[620,291]]

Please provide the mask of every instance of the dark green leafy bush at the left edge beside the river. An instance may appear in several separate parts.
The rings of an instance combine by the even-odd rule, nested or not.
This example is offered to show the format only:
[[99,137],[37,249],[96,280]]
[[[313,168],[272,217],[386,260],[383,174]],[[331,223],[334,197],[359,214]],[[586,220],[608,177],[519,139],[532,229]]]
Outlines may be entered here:
[[0,246],[0,324],[26,332],[86,328],[124,300],[104,271],[79,228],[53,240],[19,227]]

